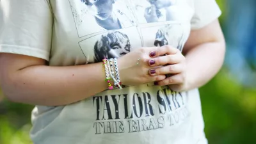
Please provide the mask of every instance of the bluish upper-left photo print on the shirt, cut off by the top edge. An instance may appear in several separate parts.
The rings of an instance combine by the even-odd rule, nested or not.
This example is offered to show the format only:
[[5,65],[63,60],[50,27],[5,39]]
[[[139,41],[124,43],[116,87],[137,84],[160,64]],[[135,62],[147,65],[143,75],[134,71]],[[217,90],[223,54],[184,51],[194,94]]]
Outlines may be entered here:
[[125,0],[69,0],[79,37],[136,26]]

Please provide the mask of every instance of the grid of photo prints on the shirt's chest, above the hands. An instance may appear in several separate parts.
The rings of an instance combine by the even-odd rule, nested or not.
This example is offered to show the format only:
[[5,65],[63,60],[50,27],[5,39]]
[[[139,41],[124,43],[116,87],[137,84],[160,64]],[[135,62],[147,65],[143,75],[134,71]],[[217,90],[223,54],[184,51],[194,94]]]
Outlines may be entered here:
[[[88,63],[119,58],[140,47],[170,44],[182,51],[189,33],[175,19],[163,20],[162,23],[157,21],[164,16],[170,18],[171,11],[166,10],[175,4],[173,0],[162,1],[141,1],[138,5],[138,1],[132,4],[133,1],[129,3],[125,0],[70,0],[77,33],[87,37],[79,42],[79,46]],[[141,5],[143,3],[145,5]],[[153,6],[148,7],[147,4]],[[157,7],[153,13],[154,4]],[[143,13],[138,9],[143,9]],[[143,25],[143,20],[136,19],[137,15],[143,15],[143,19],[147,18],[145,22],[152,24]]]

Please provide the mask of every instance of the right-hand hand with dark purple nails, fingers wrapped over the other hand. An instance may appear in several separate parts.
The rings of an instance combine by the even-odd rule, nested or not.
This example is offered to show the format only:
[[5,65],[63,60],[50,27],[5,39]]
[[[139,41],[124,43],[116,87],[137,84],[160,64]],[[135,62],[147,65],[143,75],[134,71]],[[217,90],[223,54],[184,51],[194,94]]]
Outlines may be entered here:
[[148,74],[151,76],[171,75],[155,84],[159,86],[169,85],[170,89],[178,92],[186,90],[186,58],[179,49],[170,45],[159,47],[156,55],[148,61],[148,65],[152,67],[163,66],[149,70]]

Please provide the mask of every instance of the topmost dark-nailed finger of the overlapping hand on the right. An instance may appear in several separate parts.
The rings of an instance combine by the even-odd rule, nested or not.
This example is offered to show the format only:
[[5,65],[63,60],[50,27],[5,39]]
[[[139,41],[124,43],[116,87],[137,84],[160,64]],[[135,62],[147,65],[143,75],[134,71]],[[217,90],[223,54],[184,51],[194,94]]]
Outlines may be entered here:
[[155,51],[151,51],[150,56],[157,57],[162,56],[164,54],[176,54],[177,52],[180,52],[179,49],[172,47],[170,45],[163,45],[162,47],[155,49]]

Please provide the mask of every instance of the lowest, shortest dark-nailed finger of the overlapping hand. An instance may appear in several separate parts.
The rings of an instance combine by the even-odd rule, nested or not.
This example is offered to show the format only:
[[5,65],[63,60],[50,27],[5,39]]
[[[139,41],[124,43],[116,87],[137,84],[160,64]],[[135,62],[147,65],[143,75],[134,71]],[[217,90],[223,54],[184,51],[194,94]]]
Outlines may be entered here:
[[163,81],[158,81],[158,85],[159,86],[166,86],[169,84],[182,84],[184,83],[185,77],[183,74],[176,74],[174,76],[171,77],[167,77],[166,79],[164,79]]

